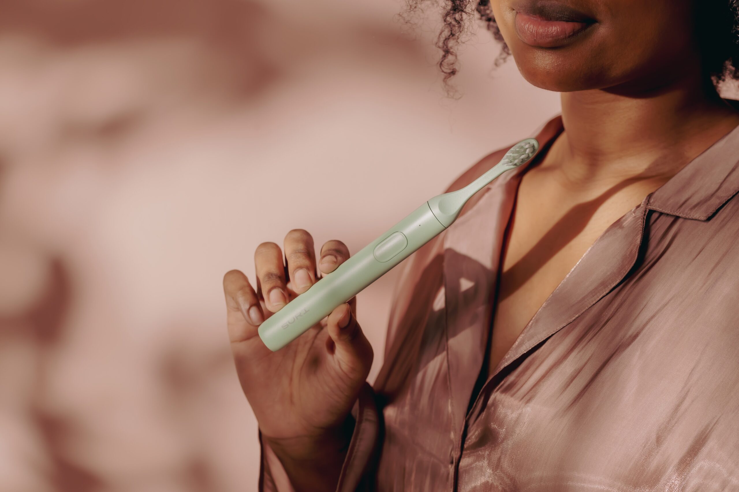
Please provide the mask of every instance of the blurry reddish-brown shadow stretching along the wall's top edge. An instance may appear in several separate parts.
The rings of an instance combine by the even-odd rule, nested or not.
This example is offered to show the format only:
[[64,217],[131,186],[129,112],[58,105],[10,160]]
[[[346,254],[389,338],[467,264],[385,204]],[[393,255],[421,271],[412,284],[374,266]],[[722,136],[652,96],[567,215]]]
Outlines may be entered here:
[[[256,97],[288,75],[294,64],[347,45],[354,55],[383,46],[415,60],[422,59],[428,48],[399,35],[391,24],[347,21],[338,14],[336,30],[324,30],[310,23],[294,24],[268,2],[253,0],[7,0],[0,32],[4,37],[33,38],[55,49],[166,39],[194,42],[215,58],[198,83],[217,83],[219,90],[237,99]],[[355,51],[357,45],[365,46]]]

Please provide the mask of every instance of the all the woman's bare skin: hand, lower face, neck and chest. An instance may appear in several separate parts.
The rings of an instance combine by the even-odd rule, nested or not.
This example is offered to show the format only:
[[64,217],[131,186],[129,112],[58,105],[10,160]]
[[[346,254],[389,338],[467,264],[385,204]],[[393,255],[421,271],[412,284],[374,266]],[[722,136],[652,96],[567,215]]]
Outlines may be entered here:
[[[699,1],[699,0],[693,0]],[[739,114],[709,89],[692,34],[688,0],[572,0],[599,24],[558,48],[528,46],[514,30],[513,1],[491,2],[520,72],[534,86],[561,92],[566,130],[537,165],[526,170],[503,255],[494,311],[489,370],[607,226],[660,187],[687,162],[739,125]],[[493,163],[494,164],[494,163]],[[557,204],[556,207],[547,204]],[[338,263],[349,256],[338,241],[324,245]],[[298,229],[285,238],[290,278],[297,266],[316,281],[313,240]],[[240,271],[226,274],[228,329],[239,379],[259,428],[297,490],[335,490],[350,409],[372,364],[372,347],[349,306],[271,353],[247,321],[251,306],[267,316],[274,286],[292,299],[282,251],[257,249],[255,292]],[[320,268],[324,273],[336,266]],[[348,419],[348,420],[347,420]]]

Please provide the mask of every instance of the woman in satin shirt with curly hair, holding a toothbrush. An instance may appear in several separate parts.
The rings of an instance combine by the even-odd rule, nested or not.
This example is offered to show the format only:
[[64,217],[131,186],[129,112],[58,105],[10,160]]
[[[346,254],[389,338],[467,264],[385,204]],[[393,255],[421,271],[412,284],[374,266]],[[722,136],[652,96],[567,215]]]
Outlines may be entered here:
[[735,3],[475,5],[562,113],[401,267],[374,388],[354,302],[276,353],[256,336],[344,243],[316,265],[296,229],[256,249],[256,291],[226,274],[261,490],[739,490],[739,105],[714,84],[739,75]]

